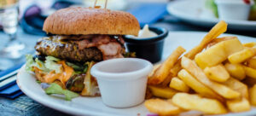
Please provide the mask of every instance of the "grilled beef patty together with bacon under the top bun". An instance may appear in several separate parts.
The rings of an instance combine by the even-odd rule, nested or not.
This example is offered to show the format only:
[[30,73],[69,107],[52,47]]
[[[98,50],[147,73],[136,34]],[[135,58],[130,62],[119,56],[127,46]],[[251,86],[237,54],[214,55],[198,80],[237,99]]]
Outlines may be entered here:
[[102,61],[123,57],[125,52],[123,38],[108,35],[41,38],[35,49],[40,55],[52,55],[68,61]]

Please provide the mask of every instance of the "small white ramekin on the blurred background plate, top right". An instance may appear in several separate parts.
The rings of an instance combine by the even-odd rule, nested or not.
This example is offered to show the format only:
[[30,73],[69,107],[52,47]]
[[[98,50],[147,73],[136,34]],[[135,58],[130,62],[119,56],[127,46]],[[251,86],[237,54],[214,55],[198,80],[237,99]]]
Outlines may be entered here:
[[243,0],[215,0],[220,20],[248,20],[253,0],[247,4]]

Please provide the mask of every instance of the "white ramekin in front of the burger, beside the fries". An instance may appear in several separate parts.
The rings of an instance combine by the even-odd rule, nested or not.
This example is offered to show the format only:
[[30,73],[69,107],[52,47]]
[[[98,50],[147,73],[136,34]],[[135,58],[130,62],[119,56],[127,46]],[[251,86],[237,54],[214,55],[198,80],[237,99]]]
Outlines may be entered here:
[[144,101],[149,61],[119,58],[96,63],[90,73],[99,85],[102,102],[109,107],[132,107]]

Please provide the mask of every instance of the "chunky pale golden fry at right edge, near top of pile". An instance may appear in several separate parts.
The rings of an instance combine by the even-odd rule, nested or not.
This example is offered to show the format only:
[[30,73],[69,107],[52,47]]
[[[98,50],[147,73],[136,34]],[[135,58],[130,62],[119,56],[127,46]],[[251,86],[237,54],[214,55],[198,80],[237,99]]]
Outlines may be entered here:
[[231,63],[237,64],[247,61],[247,59],[253,57],[253,55],[255,55],[253,49],[243,49],[239,52],[229,55],[228,59]]

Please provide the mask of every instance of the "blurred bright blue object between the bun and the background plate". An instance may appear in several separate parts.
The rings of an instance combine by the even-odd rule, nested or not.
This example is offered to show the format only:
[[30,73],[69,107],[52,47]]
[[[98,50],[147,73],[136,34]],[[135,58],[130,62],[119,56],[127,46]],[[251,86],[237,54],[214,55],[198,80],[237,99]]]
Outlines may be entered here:
[[133,9],[127,10],[127,12],[135,15],[142,27],[146,24],[152,24],[168,14],[166,3],[143,3]]

